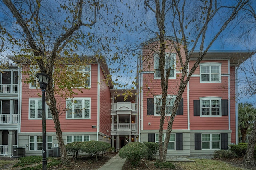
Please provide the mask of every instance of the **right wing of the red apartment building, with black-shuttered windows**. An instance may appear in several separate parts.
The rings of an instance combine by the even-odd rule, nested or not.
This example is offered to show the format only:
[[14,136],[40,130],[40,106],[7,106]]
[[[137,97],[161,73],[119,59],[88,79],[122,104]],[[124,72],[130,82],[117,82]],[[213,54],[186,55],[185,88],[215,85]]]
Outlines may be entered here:
[[[171,67],[166,115],[176,99],[181,75],[180,61],[171,40],[166,43],[166,66]],[[138,60],[141,70],[138,89],[142,89],[138,97],[140,142],[158,142],[161,106],[159,57],[146,48],[157,46],[158,41],[153,39],[144,45]],[[182,54],[185,59],[184,52]],[[192,54],[188,71],[197,56],[198,52]],[[168,155],[213,154],[214,150],[238,144],[236,70],[242,59],[250,56],[248,51],[209,51],[206,54],[182,95],[172,127]],[[166,129],[165,121],[164,132]]]

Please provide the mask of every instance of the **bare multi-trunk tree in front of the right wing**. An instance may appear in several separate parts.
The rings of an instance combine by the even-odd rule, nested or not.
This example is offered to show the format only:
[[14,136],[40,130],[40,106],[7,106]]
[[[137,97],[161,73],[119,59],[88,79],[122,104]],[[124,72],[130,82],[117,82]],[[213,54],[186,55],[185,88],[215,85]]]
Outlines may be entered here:
[[[202,0],[202,1],[186,1],[186,0],[145,0],[146,9],[149,9],[155,14],[156,25],[158,30],[155,31],[159,38],[159,49],[155,51],[159,55],[159,69],[161,72],[161,89],[162,89],[162,106],[161,118],[159,125],[159,155],[160,161],[166,161],[167,147],[172,131],[172,125],[175,118],[178,105],[182,98],[182,94],[191,75],[198,67],[200,61],[204,58],[209,48],[220,36],[220,34],[228,27],[230,23],[239,17],[240,11],[246,8],[249,0],[238,0],[233,3],[222,4],[217,0]],[[231,5],[232,4],[232,5]],[[188,11],[191,11],[188,12]],[[192,11],[196,11],[192,14]],[[225,12],[224,12],[225,11]],[[225,16],[219,16],[221,13]],[[217,21],[218,19],[218,21]],[[212,31],[209,27],[213,22],[218,22],[218,28]],[[166,26],[172,28],[166,29]],[[207,36],[209,31],[212,31],[211,36]],[[171,41],[176,53],[178,54],[181,65],[181,77],[178,85],[178,92],[174,101],[172,115],[168,119],[168,127],[164,144],[162,144],[163,125],[166,118],[166,98],[168,89],[168,77],[170,68],[165,73],[165,50],[166,50],[166,34],[174,35],[174,40]],[[192,57],[192,53],[196,48],[199,48],[199,54],[196,56],[196,62],[190,70],[188,63]],[[184,54],[182,54],[184,49]],[[182,56],[186,56],[185,61]]]

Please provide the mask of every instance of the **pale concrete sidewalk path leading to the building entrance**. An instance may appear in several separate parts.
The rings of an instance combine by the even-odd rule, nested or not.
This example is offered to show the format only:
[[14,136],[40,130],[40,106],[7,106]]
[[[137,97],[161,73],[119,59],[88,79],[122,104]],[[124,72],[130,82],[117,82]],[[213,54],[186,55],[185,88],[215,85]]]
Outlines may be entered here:
[[106,164],[104,164],[99,170],[122,170],[126,159],[122,159],[119,153],[111,158]]

